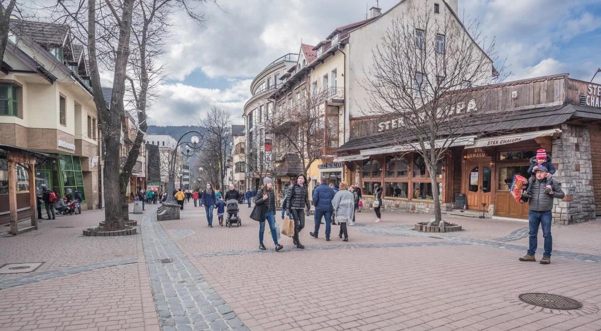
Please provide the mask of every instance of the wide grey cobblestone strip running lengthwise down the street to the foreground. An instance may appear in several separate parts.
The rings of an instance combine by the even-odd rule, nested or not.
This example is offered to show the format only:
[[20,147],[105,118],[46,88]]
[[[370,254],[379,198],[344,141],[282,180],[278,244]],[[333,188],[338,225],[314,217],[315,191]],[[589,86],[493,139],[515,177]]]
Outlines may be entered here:
[[[248,330],[178,249],[150,211],[142,218],[144,256],[163,331]],[[170,262],[161,262],[169,259]]]

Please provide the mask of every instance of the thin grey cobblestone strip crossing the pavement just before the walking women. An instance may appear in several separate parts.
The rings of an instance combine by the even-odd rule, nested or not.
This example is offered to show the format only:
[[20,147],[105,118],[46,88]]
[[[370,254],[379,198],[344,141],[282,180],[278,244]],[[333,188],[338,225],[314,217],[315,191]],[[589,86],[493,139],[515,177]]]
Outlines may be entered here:
[[389,247],[426,247],[426,246],[463,246],[462,243],[450,243],[448,241],[437,241],[432,243],[388,243],[388,244],[340,244],[340,245],[319,245],[305,246],[305,249],[284,249],[280,252],[273,250],[228,250],[225,252],[195,253],[195,258],[207,258],[210,256],[228,256],[228,255],[251,255],[251,254],[280,254],[284,252],[306,252],[308,250],[327,250],[327,249],[370,249],[370,248],[389,248]]

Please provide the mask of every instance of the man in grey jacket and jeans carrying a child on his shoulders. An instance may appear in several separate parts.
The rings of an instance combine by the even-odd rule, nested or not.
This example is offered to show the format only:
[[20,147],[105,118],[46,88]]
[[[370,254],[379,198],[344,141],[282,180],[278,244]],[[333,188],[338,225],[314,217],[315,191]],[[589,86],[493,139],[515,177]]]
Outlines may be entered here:
[[532,197],[528,213],[530,244],[526,256],[520,258],[520,261],[536,261],[534,254],[538,244],[538,226],[540,224],[543,228],[543,237],[545,237],[545,252],[540,264],[551,263],[551,251],[553,250],[551,209],[553,209],[553,199],[563,199],[564,193],[558,182],[546,178],[547,172],[546,167],[538,167],[536,170],[536,180],[532,184]]

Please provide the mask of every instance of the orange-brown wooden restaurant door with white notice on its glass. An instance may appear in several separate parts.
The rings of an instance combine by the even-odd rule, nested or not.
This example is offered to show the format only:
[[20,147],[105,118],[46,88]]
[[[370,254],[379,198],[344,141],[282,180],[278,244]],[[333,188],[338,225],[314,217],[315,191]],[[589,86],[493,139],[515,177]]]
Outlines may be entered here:
[[492,167],[487,162],[469,162],[465,173],[468,209],[488,210],[492,191]]

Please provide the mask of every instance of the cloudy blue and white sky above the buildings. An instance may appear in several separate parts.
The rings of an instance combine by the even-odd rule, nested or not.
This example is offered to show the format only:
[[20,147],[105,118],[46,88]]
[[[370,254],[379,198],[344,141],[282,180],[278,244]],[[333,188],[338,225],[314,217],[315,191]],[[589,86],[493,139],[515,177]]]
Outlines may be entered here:
[[[366,3],[367,2],[367,3]],[[398,0],[380,0],[383,11]],[[197,123],[213,105],[242,122],[254,75],[301,41],[315,45],[336,26],[365,19],[375,0],[218,0],[206,26],[177,14],[168,40],[169,81],[150,111],[151,123]],[[601,67],[601,0],[459,0],[496,37],[508,79],[569,72],[590,81]],[[596,81],[601,82],[601,74]]]

